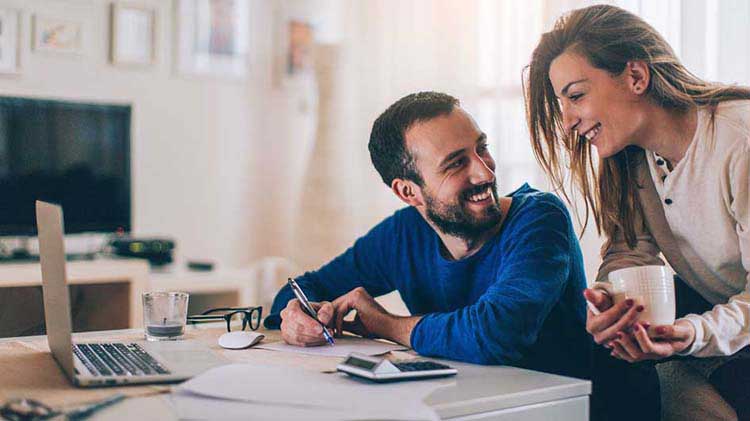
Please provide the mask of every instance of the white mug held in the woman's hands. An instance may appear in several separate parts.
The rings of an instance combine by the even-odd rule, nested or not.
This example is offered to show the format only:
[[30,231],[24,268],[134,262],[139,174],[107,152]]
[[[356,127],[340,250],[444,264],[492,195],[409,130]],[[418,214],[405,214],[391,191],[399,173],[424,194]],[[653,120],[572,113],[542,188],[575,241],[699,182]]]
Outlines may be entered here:
[[674,275],[664,266],[636,266],[609,273],[609,282],[592,286],[607,293],[614,304],[632,298],[642,305],[639,323],[650,324],[649,331],[659,325],[671,325],[675,319]]

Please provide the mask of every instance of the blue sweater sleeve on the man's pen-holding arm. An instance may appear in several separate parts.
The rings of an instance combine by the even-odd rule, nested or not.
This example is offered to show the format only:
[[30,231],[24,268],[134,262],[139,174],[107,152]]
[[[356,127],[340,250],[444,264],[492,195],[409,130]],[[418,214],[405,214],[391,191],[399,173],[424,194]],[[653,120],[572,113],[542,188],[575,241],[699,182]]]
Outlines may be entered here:
[[[357,287],[364,287],[373,297],[387,294],[395,289],[388,275],[393,253],[393,238],[397,235],[399,213],[375,226],[360,237],[344,253],[322,266],[295,278],[311,302],[332,301]],[[289,285],[276,294],[271,313],[264,326],[278,329],[281,325],[279,313],[294,298]]]

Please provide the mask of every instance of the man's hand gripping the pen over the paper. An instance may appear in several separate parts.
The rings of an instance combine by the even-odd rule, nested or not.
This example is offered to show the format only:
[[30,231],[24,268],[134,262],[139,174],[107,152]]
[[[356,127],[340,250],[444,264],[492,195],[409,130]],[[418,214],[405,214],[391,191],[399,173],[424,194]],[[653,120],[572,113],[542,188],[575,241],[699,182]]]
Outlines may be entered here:
[[[331,303],[324,301],[310,305],[318,312],[318,319],[323,324],[332,325],[334,310]],[[289,300],[286,308],[281,310],[280,316],[281,337],[289,345],[319,346],[327,343],[323,336],[323,328],[305,313],[296,298]]]

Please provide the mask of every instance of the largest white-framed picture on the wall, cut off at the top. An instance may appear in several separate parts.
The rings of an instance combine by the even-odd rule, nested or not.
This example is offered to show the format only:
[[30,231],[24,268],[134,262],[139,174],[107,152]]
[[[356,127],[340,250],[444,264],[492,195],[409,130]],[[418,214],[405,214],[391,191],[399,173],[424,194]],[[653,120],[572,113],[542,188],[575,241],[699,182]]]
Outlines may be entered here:
[[241,78],[250,41],[247,0],[178,0],[179,73]]

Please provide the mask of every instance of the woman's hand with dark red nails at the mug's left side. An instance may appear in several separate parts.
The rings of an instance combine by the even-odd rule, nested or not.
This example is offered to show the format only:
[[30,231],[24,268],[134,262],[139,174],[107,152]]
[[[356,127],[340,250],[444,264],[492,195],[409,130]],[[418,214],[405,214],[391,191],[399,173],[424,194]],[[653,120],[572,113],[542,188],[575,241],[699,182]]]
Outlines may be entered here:
[[629,329],[643,311],[643,306],[635,305],[632,299],[613,305],[609,295],[597,289],[587,288],[583,296],[600,312],[597,315],[589,309],[586,316],[586,331],[599,345],[609,347],[608,344],[617,339],[618,332]]

